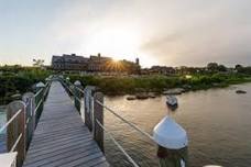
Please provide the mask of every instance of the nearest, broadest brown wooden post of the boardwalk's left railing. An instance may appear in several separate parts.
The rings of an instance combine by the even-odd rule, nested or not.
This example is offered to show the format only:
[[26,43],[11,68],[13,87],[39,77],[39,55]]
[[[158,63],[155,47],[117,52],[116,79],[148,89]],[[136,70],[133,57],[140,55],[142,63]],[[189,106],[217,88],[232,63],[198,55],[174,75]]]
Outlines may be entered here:
[[7,120],[10,120],[18,111],[21,113],[7,127],[7,147],[10,152],[20,134],[22,134],[14,151],[18,152],[17,166],[21,167],[25,157],[25,103],[13,101],[7,107]]

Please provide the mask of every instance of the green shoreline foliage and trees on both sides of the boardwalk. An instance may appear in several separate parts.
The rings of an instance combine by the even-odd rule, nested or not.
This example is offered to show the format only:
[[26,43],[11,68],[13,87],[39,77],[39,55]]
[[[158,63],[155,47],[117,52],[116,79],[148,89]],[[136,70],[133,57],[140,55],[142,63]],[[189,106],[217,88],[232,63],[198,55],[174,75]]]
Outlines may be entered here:
[[[97,86],[107,94],[134,93],[139,91],[162,92],[168,88],[184,87],[190,90],[226,87],[231,84],[251,81],[251,67],[237,66],[237,71],[226,71],[226,67],[216,63],[208,64],[209,73],[198,73],[197,68],[184,68],[184,73],[172,76],[90,76],[65,75],[70,81],[80,80],[83,86]],[[0,66],[0,103],[10,102],[10,97],[17,92],[31,91],[31,86],[52,74],[37,67]],[[189,73],[187,73],[189,71]],[[186,77],[185,74],[189,74]]]

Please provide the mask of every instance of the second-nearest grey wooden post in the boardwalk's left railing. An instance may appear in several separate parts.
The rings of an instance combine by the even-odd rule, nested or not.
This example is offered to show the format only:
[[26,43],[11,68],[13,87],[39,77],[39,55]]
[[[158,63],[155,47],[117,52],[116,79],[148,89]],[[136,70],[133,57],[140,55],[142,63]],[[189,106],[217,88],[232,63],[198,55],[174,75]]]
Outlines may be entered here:
[[22,100],[26,104],[26,151],[32,140],[32,134],[35,130],[35,98],[33,92],[23,94]]

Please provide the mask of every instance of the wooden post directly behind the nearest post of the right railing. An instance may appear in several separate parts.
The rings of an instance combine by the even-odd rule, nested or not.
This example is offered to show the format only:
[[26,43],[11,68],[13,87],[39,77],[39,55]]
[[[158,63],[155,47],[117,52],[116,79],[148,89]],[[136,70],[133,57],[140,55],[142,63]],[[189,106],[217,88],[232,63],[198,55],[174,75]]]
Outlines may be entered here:
[[87,86],[84,90],[84,110],[85,110],[85,124],[89,129],[89,131],[92,131],[92,91],[95,90],[95,87]]

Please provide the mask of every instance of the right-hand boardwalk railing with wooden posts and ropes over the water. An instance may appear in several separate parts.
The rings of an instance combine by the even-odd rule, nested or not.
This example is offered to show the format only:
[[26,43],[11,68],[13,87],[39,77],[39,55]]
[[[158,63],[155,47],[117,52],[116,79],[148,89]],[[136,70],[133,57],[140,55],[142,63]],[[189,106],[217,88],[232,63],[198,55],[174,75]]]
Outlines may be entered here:
[[[118,143],[118,141],[113,137],[112,133],[109,132],[103,125],[103,110],[106,109],[114,116],[127,123],[133,130],[135,130],[139,134],[146,136],[149,140],[153,141],[153,136],[150,135],[144,130],[140,129],[132,122],[119,115],[116,111],[110,109],[109,107],[103,104],[103,94],[98,92],[97,88],[92,86],[87,86],[83,89],[79,81],[75,81],[72,84],[68,79],[61,79],[63,86],[66,88],[68,93],[74,97],[74,103],[77,108],[79,114],[81,115],[85,124],[88,126],[90,131],[92,131],[94,138],[98,143],[100,149],[103,152],[103,132],[111,138],[114,145],[120,149],[120,152],[127,157],[127,159],[134,166],[139,167],[139,165],[133,160],[133,158],[124,151],[124,148]],[[84,102],[81,102],[81,98],[84,98]],[[84,104],[84,111],[80,110],[81,104]],[[154,142],[154,141],[153,141]],[[153,143],[154,144],[154,143]]]

